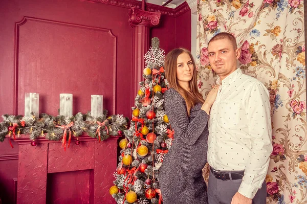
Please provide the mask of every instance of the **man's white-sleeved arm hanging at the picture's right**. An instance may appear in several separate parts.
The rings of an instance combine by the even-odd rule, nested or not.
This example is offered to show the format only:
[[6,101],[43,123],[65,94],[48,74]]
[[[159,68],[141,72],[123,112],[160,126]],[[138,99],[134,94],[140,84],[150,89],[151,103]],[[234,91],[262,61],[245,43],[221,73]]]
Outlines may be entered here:
[[261,82],[252,85],[245,109],[252,149],[238,193],[253,198],[266,178],[273,150],[269,92]]

